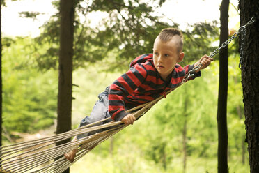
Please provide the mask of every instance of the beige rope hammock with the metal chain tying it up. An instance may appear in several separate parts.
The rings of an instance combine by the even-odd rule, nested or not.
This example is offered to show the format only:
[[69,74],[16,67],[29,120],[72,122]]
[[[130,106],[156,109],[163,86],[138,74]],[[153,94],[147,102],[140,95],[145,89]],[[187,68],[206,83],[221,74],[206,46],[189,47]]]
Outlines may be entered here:
[[[251,20],[240,27],[240,29],[233,34],[226,42],[224,42],[221,47],[217,48],[210,54],[209,57],[213,57],[215,54],[228,45],[231,40],[236,38],[240,33],[246,30],[246,27],[253,22],[255,22],[255,17],[252,17]],[[196,70],[201,68],[201,63],[198,66],[194,67],[193,70],[190,70],[187,75],[185,75],[182,82],[178,85],[180,87],[182,84],[187,82],[190,77],[192,77]],[[176,88],[178,88],[176,87]],[[175,89],[176,89],[175,88]],[[171,91],[173,91],[172,89]],[[168,91],[170,93],[171,91]],[[131,112],[136,119],[139,119],[143,114],[146,114],[150,108],[155,105],[159,100],[164,98],[160,96],[159,98],[152,100],[150,103],[139,105],[127,110]],[[17,144],[10,144],[8,146],[0,147],[0,172],[3,173],[59,173],[63,172],[73,163],[83,157],[86,153],[95,148],[98,144],[104,142],[109,137],[115,135],[116,133],[123,130],[127,127],[124,123],[120,121],[110,121],[109,123],[104,123],[102,125],[96,126],[97,123],[110,120],[111,118],[102,119],[95,123],[82,126],[77,129],[70,130],[65,133],[58,135],[52,135],[50,137],[43,137],[38,140],[31,140],[28,142],[19,142]],[[105,129],[105,130],[104,130]],[[103,130],[100,133],[95,133],[87,137],[83,137],[79,140],[73,142],[67,142],[65,144],[57,145],[57,142],[62,142],[64,140],[71,139],[74,136],[81,135],[84,133],[95,132],[96,130]],[[77,155],[74,158],[74,162],[66,160],[63,156],[65,153],[68,153],[74,149],[77,149]]]

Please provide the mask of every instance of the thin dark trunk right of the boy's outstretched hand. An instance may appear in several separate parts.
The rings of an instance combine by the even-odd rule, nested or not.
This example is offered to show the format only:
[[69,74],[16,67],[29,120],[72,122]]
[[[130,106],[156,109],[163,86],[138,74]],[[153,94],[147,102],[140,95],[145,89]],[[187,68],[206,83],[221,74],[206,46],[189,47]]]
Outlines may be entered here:
[[[228,6],[229,0],[222,0],[220,6],[220,45],[228,40]],[[228,128],[227,128],[227,98],[228,98],[228,47],[219,52],[219,97],[218,97],[218,172],[228,172]]]

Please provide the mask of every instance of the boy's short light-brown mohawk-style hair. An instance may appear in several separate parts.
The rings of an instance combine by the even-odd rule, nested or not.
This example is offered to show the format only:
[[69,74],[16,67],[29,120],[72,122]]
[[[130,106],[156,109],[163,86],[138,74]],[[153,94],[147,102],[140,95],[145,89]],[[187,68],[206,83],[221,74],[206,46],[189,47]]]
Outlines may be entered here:
[[179,29],[175,29],[175,28],[162,29],[162,31],[159,33],[157,37],[166,43],[170,41],[173,38],[173,36],[176,36],[176,35],[180,36],[181,38],[178,43],[178,52],[182,52],[183,36],[182,36],[182,32]]

